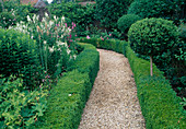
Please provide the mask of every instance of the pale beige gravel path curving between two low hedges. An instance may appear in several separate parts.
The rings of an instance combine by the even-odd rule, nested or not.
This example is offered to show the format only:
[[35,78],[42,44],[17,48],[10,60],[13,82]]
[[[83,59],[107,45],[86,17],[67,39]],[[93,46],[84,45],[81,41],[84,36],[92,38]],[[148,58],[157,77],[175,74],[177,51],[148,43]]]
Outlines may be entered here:
[[146,129],[128,59],[100,51],[100,71],[79,129]]

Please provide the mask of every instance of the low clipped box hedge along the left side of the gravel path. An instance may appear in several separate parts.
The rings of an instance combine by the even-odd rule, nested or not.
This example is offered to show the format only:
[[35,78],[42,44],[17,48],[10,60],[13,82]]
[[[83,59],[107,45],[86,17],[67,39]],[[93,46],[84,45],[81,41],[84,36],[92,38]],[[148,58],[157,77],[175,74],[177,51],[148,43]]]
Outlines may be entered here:
[[92,45],[80,45],[83,46],[83,51],[50,91],[48,108],[33,128],[78,129],[100,69],[100,55],[96,48]]

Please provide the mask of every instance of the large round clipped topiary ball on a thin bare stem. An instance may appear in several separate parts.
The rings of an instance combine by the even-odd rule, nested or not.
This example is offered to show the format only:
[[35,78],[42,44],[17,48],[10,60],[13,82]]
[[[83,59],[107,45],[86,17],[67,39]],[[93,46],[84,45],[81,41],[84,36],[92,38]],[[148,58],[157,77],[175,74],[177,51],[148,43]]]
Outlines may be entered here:
[[178,31],[172,21],[143,19],[131,25],[128,32],[130,47],[138,54],[152,57],[174,49],[178,42]]

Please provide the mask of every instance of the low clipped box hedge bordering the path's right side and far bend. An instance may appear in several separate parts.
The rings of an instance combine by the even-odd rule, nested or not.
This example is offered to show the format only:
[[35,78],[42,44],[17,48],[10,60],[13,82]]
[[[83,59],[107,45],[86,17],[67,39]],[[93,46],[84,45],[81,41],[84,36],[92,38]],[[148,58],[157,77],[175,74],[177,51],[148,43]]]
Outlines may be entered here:
[[138,98],[146,119],[147,129],[186,128],[186,114],[179,104],[182,99],[176,96],[170,82],[163,77],[163,72],[155,64],[153,64],[154,75],[151,78],[150,62],[138,58],[127,42],[101,40],[96,38],[81,38],[80,40],[93,44],[98,48],[123,52],[128,58],[135,74]]

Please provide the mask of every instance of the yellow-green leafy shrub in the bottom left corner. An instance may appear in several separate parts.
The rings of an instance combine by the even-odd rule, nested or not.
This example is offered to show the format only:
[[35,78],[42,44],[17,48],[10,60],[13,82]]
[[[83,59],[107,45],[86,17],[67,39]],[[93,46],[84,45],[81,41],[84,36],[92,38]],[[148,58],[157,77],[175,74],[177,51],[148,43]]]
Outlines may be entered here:
[[0,79],[0,128],[30,128],[44,115],[47,94],[42,89],[26,90],[22,79]]

